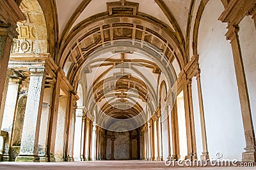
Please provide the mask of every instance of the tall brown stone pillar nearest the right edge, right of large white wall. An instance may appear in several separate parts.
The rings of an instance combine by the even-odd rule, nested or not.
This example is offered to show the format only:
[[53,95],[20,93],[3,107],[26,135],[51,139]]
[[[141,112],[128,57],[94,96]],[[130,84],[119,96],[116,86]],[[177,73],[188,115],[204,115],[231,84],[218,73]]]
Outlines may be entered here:
[[255,152],[255,134],[252,122],[252,113],[250,108],[250,101],[248,96],[248,89],[246,84],[246,78],[244,73],[243,59],[241,55],[241,48],[238,37],[238,27],[230,27],[226,34],[227,40],[230,40],[233,52],[234,66],[236,71],[236,80],[238,87],[238,94],[243,118],[244,126],[244,136],[246,141],[246,147],[242,154],[242,160],[244,162],[255,162],[256,152]]

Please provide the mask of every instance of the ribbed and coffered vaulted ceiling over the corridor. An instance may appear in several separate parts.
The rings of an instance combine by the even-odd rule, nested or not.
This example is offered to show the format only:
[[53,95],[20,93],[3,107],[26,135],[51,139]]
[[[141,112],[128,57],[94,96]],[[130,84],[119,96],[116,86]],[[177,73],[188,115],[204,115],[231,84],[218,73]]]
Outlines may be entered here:
[[[49,51],[70,84],[83,87],[81,105],[104,124],[104,117],[124,120],[140,113],[138,121],[128,124],[147,122],[148,112],[154,114],[159,107],[162,81],[172,89],[188,62],[191,1],[49,2],[38,0],[44,8],[48,35],[53,32],[51,27],[56,32],[54,38],[49,36]],[[45,13],[49,6],[56,7],[51,8],[55,17]],[[55,45],[51,39],[56,39]]]

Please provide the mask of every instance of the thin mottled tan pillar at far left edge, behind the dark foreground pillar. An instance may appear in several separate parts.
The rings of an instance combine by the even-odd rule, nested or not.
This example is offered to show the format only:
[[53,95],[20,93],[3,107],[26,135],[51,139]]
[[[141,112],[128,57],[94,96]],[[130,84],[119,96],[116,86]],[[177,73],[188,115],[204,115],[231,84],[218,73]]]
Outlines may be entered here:
[[4,115],[4,107],[5,107],[5,102],[6,102],[6,95],[7,95],[7,90],[8,90],[8,83],[10,76],[12,75],[12,70],[8,69],[6,72],[6,78],[5,78],[5,83],[4,83],[4,89],[3,89],[3,96],[2,96],[2,103],[1,103],[1,108],[0,108],[0,129],[2,127],[2,120],[3,120],[3,115]]

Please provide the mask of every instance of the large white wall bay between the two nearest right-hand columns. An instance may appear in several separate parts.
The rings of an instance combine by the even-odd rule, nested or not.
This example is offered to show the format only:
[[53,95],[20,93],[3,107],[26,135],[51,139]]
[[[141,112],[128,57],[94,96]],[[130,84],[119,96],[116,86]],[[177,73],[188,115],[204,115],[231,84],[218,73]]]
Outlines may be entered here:
[[209,1],[198,34],[207,142],[210,158],[216,159],[221,152],[223,159],[241,160],[246,145],[234,60],[225,39],[227,24],[218,20],[223,10],[221,1]]

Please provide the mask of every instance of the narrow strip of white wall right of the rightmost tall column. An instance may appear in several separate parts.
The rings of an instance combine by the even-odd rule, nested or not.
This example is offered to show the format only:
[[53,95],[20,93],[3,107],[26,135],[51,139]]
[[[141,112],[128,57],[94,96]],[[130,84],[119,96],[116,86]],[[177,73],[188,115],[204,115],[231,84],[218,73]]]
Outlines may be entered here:
[[256,29],[253,19],[245,17],[239,24],[239,41],[243,57],[244,72],[251,104],[254,130],[256,128]]

